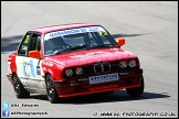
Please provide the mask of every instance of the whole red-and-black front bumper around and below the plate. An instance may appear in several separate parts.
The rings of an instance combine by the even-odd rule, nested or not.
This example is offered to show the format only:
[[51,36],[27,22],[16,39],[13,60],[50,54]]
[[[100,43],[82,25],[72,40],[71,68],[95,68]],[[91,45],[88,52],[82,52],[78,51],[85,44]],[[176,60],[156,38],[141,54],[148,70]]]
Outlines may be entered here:
[[124,88],[133,88],[140,86],[143,69],[118,74],[119,79],[114,82],[90,84],[88,78],[81,78],[76,82],[55,82],[54,84],[59,97],[72,97],[95,93],[105,93],[109,90],[119,90]]

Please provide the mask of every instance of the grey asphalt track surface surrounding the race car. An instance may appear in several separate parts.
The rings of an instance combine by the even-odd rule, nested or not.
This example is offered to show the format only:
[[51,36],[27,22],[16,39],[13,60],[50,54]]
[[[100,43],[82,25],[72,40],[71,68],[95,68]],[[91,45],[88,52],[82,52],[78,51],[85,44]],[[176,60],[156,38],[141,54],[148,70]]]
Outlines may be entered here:
[[[117,90],[59,104],[51,104],[43,95],[15,98],[6,77],[7,58],[23,34],[31,29],[72,22],[99,23],[115,39],[126,39],[123,48],[136,53],[144,69],[145,91],[140,97],[130,98],[126,90]],[[1,1],[2,101],[10,102],[10,117],[14,118],[178,117],[178,1]],[[12,107],[22,104],[38,107]],[[14,111],[48,115],[11,115]]]

